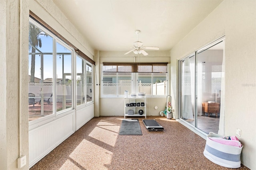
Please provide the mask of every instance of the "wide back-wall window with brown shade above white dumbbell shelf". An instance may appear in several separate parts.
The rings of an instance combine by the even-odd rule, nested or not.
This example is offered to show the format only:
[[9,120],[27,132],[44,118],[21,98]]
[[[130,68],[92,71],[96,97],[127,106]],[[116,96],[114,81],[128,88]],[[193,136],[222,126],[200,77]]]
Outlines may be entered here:
[[124,96],[146,92],[146,95],[167,94],[167,63],[103,63],[102,96]]

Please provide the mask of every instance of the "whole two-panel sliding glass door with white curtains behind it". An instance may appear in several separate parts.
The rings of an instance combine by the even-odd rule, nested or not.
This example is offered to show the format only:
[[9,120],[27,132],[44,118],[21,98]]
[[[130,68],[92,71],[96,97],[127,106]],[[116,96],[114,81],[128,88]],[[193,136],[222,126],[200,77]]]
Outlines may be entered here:
[[224,57],[222,38],[179,61],[180,119],[206,134],[222,128]]

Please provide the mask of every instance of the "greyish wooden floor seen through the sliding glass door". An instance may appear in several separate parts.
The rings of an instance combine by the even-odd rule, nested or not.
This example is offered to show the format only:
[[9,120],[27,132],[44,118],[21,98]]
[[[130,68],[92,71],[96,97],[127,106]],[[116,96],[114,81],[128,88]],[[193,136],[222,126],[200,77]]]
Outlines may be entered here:
[[[193,116],[194,117],[194,116]],[[188,123],[195,125],[195,121],[188,121]],[[208,117],[208,114],[197,116],[197,128],[205,132],[206,134],[209,134],[209,132],[218,133],[219,130],[219,122],[220,122],[220,116],[216,118],[215,115],[210,115]]]

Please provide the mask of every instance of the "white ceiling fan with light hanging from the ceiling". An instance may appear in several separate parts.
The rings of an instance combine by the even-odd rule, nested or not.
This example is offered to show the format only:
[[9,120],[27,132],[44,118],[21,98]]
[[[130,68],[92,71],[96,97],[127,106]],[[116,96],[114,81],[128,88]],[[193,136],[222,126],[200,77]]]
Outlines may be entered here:
[[134,47],[128,47],[128,48],[134,48],[130,51],[128,51],[127,53],[125,53],[124,55],[133,52],[135,54],[140,54],[142,53],[143,55],[148,55],[148,53],[144,50],[144,49],[154,49],[154,50],[158,50],[159,47],[148,47],[148,46],[143,46],[143,43],[139,41],[139,34],[140,34],[140,30],[136,30],[135,33],[138,35],[138,40],[136,42],[133,43]]

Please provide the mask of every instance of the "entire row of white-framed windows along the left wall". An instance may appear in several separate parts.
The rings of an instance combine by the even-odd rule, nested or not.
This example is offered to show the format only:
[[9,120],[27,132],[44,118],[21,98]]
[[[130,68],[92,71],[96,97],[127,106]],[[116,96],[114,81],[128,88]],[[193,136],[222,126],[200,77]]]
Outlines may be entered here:
[[76,56],[72,45],[49,30],[30,18],[29,121],[60,115],[77,105],[93,102],[93,64],[78,49]]

